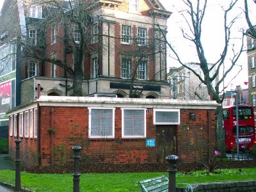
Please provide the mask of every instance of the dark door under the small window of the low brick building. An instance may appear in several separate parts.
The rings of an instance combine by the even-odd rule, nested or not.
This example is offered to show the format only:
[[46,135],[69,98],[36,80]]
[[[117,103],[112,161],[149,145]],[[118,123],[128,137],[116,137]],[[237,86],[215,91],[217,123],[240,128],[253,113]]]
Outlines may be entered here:
[[176,154],[177,125],[156,126],[157,163],[166,163],[165,157]]

